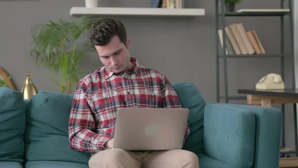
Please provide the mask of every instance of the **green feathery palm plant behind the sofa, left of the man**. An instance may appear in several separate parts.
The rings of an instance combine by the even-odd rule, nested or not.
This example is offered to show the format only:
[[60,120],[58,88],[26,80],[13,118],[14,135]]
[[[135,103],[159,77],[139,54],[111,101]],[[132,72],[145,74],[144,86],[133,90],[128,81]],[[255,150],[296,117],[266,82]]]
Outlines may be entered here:
[[79,43],[78,39],[92,23],[89,16],[82,16],[73,22],[60,19],[31,28],[34,48],[30,53],[34,63],[53,73],[50,79],[63,93],[71,93],[81,76],[79,62],[92,46],[87,41]]

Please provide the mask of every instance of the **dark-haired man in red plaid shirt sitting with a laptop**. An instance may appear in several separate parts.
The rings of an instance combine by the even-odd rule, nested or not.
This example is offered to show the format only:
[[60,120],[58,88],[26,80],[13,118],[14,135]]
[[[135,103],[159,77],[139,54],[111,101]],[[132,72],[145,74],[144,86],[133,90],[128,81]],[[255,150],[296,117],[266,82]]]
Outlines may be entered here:
[[[90,168],[198,167],[197,156],[186,150],[110,149],[118,108],[181,108],[181,105],[164,74],[139,66],[130,57],[130,40],[120,21],[97,21],[91,26],[89,38],[105,66],[78,82],[69,119],[70,147],[92,154]],[[187,125],[185,139],[188,133]]]

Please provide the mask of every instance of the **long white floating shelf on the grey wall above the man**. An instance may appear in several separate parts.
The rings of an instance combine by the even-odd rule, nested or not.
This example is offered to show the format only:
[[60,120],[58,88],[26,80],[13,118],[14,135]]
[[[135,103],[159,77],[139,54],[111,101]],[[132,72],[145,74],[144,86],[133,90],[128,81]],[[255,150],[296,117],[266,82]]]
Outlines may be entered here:
[[118,16],[175,16],[195,17],[204,16],[205,9],[166,9],[166,8],[85,8],[72,7],[71,16],[81,15],[118,15]]

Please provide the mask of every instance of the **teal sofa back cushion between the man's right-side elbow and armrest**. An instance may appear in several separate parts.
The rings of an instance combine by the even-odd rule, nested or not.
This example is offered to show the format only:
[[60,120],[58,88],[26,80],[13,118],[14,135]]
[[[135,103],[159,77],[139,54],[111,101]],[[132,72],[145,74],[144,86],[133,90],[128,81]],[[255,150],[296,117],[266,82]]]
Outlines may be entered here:
[[192,83],[178,82],[172,85],[182,107],[189,109],[188,124],[190,133],[183,149],[194,153],[202,152],[205,100],[200,91]]

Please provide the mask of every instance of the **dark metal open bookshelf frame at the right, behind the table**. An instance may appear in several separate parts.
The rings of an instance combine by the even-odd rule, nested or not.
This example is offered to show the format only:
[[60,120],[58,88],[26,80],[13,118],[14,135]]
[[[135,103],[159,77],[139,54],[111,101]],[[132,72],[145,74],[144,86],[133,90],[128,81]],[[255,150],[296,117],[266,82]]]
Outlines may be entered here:
[[[289,10],[284,10],[284,4],[287,3],[287,8]],[[290,59],[291,61],[291,78],[292,78],[292,89],[295,88],[295,71],[294,71],[294,40],[293,40],[293,20],[292,20],[292,0],[280,0],[280,11],[276,11],[276,10],[268,10],[268,11],[260,11],[260,10],[255,10],[255,12],[225,12],[225,8],[224,8],[224,0],[216,0],[215,3],[215,11],[216,11],[216,83],[217,83],[217,88],[216,88],[216,94],[217,94],[217,102],[220,102],[221,100],[224,100],[225,103],[228,103],[229,100],[241,100],[241,99],[246,99],[246,97],[241,97],[241,96],[235,96],[235,95],[228,95],[228,72],[227,72],[227,59],[233,58],[252,58],[252,59],[258,59],[258,58],[280,58],[280,69],[281,69],[281,76],[284,79],[284,71],[285,71],[285,59]],[[289,17],[289,30],[285,30],[284,28],[284,17],[287,16]],[[225,23],[226,23],[226,19],[230,18],[230,17],[277,17],[280,19],[280,23],[276,23],[279,24],[280,26],[280,53],[273,53],[273,54],[253,54],[253,55],[228,55],[226,53],[226,40],[223,40],[223,44],[221,46],[220,44],[220,38],[219,38],[219,34],[218,34],[218,30],[222,29],[225,30]],[[285,49],[284,49],[284,32],[288,31],[289,32],[289,39],[290,39],[290,54],[285,54]],[[226,38],[226,32],[222,31],[222,39]],[[220,51],[222,54],[220,54]],[[220,71],[219,69],[219,60],[223,59],[223,72]],[[257,68],[257,67],[255,67]],[[223,75],[224,78],[224,95],[220,95],[220,85],[221,85],[221,81],[220,81],[220,75]],[[285,136],[284,136],[284,132],[285,132],[285,120],[284,120],[284,104],[282,104],[281,107],[281,111],[283,112],[283,121],[282,121],[282,140],[281,140],[281,146],[284,147],[285,146]],[[295,108],[294,108],[295,109]],[[296,114],[296,111],[294,111],[294,114]],[[294,118],[294,122],[296,121],[296,118]],[[294,123],[296,124],[296,122]],[[296,142],[296,137],[297,137],[297,131],[295,131],[294,133],[295,135],[295,150],[281,150],[281,154],[295,154],[296,157],[291,157],[291,159],[289,161],[294,162],[295,167],[298,166],[298,142]],[[285,165],[289,165],[288,164],[288,160],[285,158],[281,158],[280,159],[280,167],[288,167]]]

